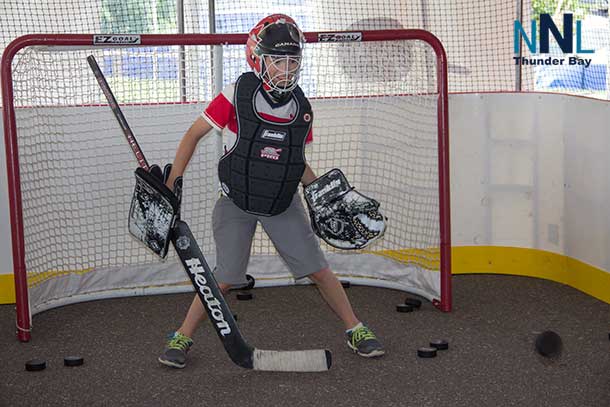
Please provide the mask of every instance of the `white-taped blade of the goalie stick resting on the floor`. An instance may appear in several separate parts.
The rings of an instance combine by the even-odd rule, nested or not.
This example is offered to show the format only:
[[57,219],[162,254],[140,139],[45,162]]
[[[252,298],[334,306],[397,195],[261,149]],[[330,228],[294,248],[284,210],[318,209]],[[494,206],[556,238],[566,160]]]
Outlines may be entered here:
[[332,364],[328,350],[276,351],[254,349],[254,370],[272,372],[325,372]]

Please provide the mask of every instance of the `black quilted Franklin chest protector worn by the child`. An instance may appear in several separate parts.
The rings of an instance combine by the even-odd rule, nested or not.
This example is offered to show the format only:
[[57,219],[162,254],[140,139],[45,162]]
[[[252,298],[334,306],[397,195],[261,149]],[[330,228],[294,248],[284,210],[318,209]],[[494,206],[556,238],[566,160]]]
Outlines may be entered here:
[[292,91],[297,112],[292,121],[273,123],[255,110],[262,82],[252,72],[235,85],[237,142],[218,163],[225,194],[241,209],[257,215],[284,212],[305,171],[305,139],[312,123],[309,101],[300,87]]

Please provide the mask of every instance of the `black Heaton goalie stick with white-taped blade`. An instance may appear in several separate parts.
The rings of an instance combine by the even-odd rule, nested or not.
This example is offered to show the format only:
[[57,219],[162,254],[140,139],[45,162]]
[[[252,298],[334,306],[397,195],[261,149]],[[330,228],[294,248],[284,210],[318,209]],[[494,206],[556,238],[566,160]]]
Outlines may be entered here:
[[[93,55],[87,57],[100,88],[123,130],[127,142],[140,167],[148,171],[149,165],[117,103],[104,74]],[[231,360],[245,369],[283,372],[322,372],[330,369],[332,356],[329,350],[301,351],[261,350],[252,347],[242,336],[233,313],[230,311],[218,284],[210,270],[189,226],[177,220],[172,228],[174,249],[189,276],[197,295],[201,299],[222,345]]]

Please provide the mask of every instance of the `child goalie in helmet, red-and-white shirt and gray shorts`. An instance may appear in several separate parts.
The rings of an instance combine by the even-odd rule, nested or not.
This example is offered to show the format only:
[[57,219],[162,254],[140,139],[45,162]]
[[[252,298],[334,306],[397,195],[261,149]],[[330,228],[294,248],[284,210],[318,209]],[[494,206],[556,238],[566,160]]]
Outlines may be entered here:
[[[313,139],[313,112],[297,85],[303,42],[303,33],[286,15],[270,15],[256,24],[246,46],[252,72],[242,74],[236,83],[227,86],[195,120],[178,146],[166,185],[171,188],[176,178],[183,175],[197,143],[210,130],[221,131],[225,154],[218,164],[218,176],[222,195],[214,207],[212,226],[217,258],[214,276],[222,292],[247,283],[252,238],[260,222],[294,278],[311,279],[341,319],[347,345],[364,357],[381,356],[385,353],[381,343],[352,310],[320,249],[297,193],[300,184],[306,187],[316,181],[305,159],[305,144]],[[318,181],[313,185],[319,184]],[[347,184],[341,188],[345,191],[333,193],[332,201],[337,208],[345,209],[337,199],[343,199],[350,187]],[[376,202],[350,195],[345,201],[348,210],[343,215],[357,207],[364,210],[329,221],[333,216],[329,218],[323,206],[318,205],[320,200],[313,199],[320,197],[320,191],[316,188],[308,203],[312,220],[319,221],[314,226],[323,238],[332,239],[338,247],[361,248],[383,234],[385,223],[377,212]],[[354,199],[361,205],[350,209],[349,202]],[[320,208],[322,213],[316,215]],[[345,230],[349,232],[346,241],[351,243],[342,244],[344,235],[333,225],[349,218],[356,219],[346,223]],[[168,338],[159,362],[176,368],[185,366],[186,354],[193,345],[190,337],[204,316],[203,305],[195,296],[182,325]]]

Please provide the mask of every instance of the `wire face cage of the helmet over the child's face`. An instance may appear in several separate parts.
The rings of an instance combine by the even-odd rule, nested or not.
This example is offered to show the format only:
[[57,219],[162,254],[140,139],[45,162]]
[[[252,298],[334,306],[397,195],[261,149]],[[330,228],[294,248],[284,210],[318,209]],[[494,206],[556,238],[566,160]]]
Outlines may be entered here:
[[301,72],[300,56],[263,55],[263,61],[261,77],[269,88],[277,92],[290,92],[296,88]]

